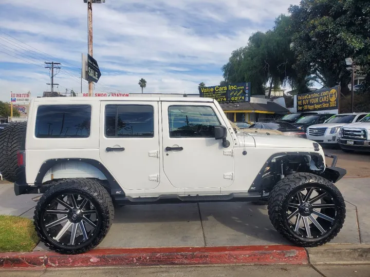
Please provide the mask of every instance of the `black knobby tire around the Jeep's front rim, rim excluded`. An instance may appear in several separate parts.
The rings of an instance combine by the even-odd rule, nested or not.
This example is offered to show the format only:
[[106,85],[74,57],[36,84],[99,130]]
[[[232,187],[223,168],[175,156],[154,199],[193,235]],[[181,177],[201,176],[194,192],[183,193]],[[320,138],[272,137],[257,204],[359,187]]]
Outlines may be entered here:
[[[332,228],[324,236],[307,239],[301,238],[289,228],[286,207],[295,191],[312,186],[330,191],[337,207],[337,215]],[[343,227],[345,212],[344,199],[339,189],[323,177],[311,173],[296,173],[285,177],[273,187],[269,195],[268,214],[272,225],[284,238],[299,246],[315,247],[334,239]]]

